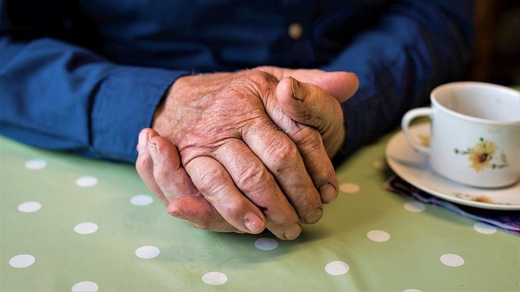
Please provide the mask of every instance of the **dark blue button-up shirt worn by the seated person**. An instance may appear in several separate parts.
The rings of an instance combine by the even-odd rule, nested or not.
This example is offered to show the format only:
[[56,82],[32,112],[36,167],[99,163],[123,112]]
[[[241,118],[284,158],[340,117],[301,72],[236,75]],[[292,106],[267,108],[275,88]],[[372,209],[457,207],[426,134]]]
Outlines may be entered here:
[[472,10],[466,0],[0,0],[1,134],[133,162],[139,130],[181,75],[322,68],[360,79],[342,105],[343,157],[459,77]]

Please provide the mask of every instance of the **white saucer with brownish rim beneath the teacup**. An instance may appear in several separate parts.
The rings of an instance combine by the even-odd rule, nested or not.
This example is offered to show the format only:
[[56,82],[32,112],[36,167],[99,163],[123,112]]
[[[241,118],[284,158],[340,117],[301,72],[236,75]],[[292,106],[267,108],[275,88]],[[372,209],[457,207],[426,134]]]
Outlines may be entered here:
[[[420,141],[429,137],[429,123],[410,128],[411,135]],[[520,210],[520,181],[504,188],[483,189],[447,180],[431,169],[428,156],[415,151],[399,132],[386,146],[386,161],[395,173],[420,190],[446,201],[484,209]]]

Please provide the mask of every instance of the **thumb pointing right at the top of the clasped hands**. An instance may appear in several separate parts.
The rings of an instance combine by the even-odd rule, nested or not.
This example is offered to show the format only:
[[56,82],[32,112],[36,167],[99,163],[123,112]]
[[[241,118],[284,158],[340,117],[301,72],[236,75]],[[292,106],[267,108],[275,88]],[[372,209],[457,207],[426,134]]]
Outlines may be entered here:
[[257,69],[275,76],[281,80],[292,76],[300,82],[319,86],[323,91],[332,95],[338,102],[344,102],[358,90],[359,79],[352,72],[326,72],[319,69],[286,69],[273,66],[261,66]]

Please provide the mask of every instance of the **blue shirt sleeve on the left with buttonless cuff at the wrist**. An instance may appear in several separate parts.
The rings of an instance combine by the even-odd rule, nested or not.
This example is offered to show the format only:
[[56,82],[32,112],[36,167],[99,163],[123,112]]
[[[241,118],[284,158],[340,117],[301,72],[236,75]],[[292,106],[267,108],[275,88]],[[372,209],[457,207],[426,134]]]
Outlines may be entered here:
[[134,162],[142,128],[183,71],[121,66],[53,38],[0,36],[1,134],[33,146]]

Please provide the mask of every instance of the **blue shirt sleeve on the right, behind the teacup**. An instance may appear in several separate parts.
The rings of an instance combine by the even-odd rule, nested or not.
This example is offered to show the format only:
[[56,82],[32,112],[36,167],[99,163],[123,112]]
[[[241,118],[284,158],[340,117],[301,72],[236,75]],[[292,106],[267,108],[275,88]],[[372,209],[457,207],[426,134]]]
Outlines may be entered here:
[[335,162],[395,127],[434,86],[460,77],[471,54],[472,13],[472,1],[402,1],[323,67],[360,79],[342,104],[347,133]]

